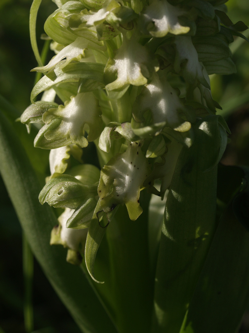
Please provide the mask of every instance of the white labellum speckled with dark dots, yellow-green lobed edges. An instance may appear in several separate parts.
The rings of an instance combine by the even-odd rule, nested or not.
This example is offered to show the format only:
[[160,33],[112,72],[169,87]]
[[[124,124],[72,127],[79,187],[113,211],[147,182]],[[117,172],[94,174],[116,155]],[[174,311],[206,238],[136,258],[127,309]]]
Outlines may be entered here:
[[128,144],[123,154],[117,154],[102,168],[98,194],[105,212],[125,203],[131,220],[142,213],[139,195],[150,174],[150,165],[140,146],[139,142]]

